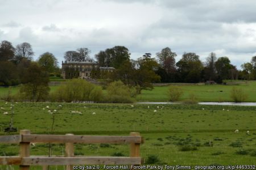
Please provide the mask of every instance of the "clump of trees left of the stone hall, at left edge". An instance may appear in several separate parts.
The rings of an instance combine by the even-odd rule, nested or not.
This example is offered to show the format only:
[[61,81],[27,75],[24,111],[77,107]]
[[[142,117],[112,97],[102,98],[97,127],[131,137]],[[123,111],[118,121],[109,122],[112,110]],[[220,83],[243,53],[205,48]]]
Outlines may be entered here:
[[60,76],[57,59],[52,53],[43,53],[37,61],[33,61],[33,56],[34,51],[28,42],[22,42],[14,47],[9,41],[2,41],[0,43],[0,86],[26,84],[34,79],[31,74],[38,73],[47,78],[49,73]]

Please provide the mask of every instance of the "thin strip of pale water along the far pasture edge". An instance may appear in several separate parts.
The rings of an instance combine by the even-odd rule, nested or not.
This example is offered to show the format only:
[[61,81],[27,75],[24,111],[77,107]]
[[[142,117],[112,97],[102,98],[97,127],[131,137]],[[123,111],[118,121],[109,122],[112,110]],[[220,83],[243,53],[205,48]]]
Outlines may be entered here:
[[[137,102],[137,104],[181,104],[181,103],[174,103],[174,102]],[[256,106],[256,103],[253,102],[243,102],[243,103],[233,103],[233,102],[200,102],[198,104],[202,105],[243,105],[243,106]]]

